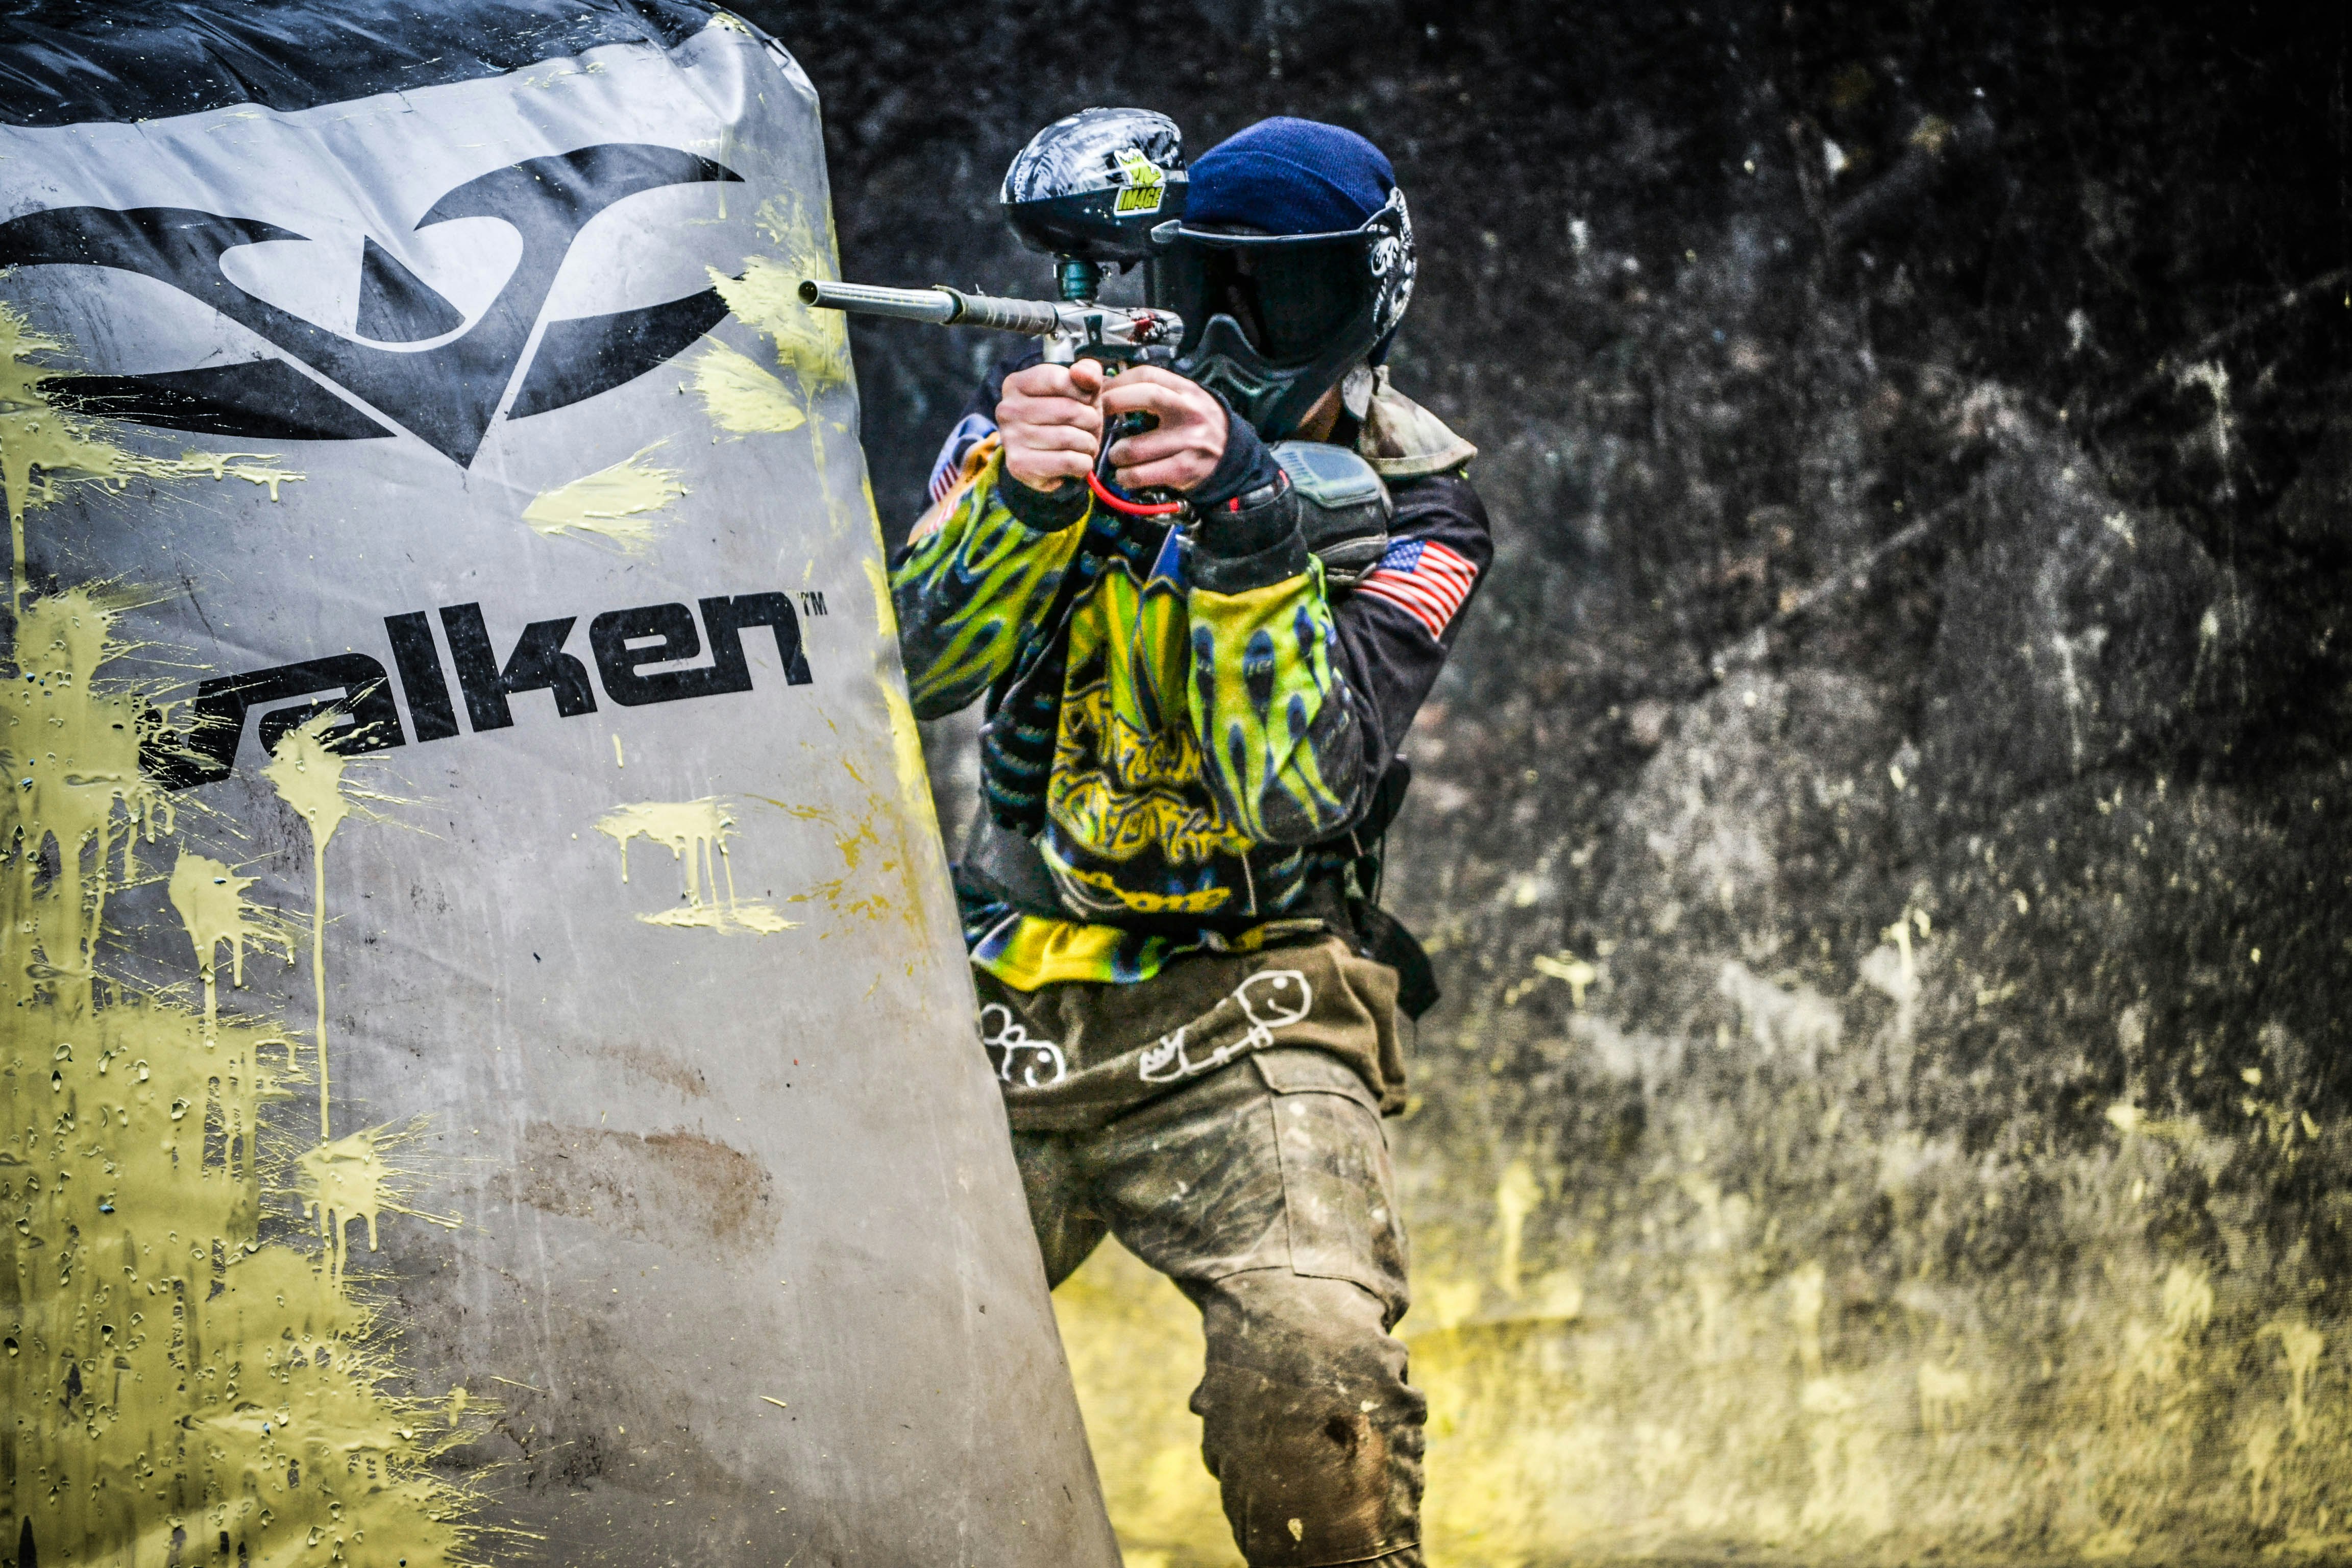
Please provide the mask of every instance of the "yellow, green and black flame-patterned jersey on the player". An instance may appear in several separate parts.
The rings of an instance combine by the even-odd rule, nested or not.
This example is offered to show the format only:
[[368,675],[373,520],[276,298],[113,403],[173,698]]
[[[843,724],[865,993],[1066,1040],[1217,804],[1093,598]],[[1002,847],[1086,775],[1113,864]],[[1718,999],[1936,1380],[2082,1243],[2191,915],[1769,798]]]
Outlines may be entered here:
[[993,442],[960,468],[891,574],[908,686],[920,717],[988,701],[985,809],[1058,903],[960,882],[974,961],[1021,990],[1143,980],[1319,926],[1317,884],[1362,853],[1350,830],[1491,559],[1458,465],[1392,482],[1397,543],[1345,595],[1296,534],[1204,557],[1094,503],[1040,520]]

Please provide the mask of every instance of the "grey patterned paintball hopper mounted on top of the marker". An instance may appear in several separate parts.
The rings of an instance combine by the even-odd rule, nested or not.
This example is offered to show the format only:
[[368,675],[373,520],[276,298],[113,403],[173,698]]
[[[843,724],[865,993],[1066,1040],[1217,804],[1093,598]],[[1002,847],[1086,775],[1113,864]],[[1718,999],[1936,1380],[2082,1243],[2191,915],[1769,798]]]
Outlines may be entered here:
[[1183,132],[1148,108],[1082,108],[1044,127],[1004,172],[1021,244],[1058,263],[1065,301],[1091,301],[1103,270],[1152,261],[1152,230],[1183,216]]

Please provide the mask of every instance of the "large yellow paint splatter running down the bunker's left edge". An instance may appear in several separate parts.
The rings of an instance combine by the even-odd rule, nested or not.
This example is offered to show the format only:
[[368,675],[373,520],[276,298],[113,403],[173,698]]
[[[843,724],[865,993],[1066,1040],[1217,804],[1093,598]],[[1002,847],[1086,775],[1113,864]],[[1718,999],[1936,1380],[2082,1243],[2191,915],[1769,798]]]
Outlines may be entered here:
[[[56,343],[0,308],[16,548],[0,686],[14,783],[0,804],[0,1552],[31,1542],[49,1568],[475,1563],[477,1500],[433,1460],[482,1422],[386,1392],[402,1371],[390,1326],[329,1267],[263,1239],[294,1154],[268,1112],[301,1081],[282,1030],[96,969],[134,844],[176,820],[139,773],[151,698],[108,679],[113,604],[89,588],[33,597],[24,520],[73,477],[266,480],[233,456],[127,454],[99,421],[47,407],[21,357],[35,350]],[[245,945],[285,936],[247,886],[176,851],[169,903],[207,992],[223,940],[235,978]]]

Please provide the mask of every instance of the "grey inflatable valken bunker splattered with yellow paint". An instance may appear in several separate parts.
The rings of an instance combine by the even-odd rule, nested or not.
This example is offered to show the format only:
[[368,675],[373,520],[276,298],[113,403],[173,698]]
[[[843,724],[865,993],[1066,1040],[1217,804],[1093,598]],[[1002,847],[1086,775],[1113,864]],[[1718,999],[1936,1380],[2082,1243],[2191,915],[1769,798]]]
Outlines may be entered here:
[[797,63],[12,7],[0,268],[0,1559],[1112,1563]]

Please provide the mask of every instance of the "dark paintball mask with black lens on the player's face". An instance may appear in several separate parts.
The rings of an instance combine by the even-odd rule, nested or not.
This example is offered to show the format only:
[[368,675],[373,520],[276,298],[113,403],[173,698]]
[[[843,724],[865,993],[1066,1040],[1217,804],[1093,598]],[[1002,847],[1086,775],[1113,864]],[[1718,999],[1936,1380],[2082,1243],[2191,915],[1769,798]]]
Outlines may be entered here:
[[1404,320],[1414,296],[1414,221],[1404,193],[1355,228],[1275,235],[1152,230],[1152,303],[1185,322],[1176,369],[1211,388],[1261,437],[1298,428],[1341,376]]

